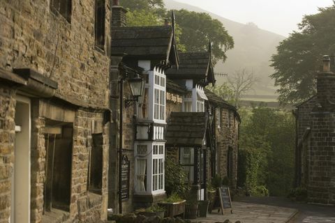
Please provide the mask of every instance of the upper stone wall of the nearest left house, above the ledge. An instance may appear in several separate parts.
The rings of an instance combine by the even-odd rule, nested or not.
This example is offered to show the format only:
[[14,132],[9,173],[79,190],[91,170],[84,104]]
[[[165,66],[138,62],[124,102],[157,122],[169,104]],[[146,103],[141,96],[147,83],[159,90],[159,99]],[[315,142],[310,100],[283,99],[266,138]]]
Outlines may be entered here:
[[72,0],[68,22],[50,1],[0,1],[0,67],[31,68],[58,82],[57,93],[108,105],[110,1],[105,7],[105,50],[94,39],[95,1]]

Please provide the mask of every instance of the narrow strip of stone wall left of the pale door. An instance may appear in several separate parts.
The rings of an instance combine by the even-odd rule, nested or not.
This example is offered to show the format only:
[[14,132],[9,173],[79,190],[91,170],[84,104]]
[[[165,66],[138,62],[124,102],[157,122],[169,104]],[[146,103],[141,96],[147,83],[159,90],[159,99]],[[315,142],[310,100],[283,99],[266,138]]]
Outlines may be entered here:
[[0,82],[0,222],[10,216],[15,141],[15,90]]

